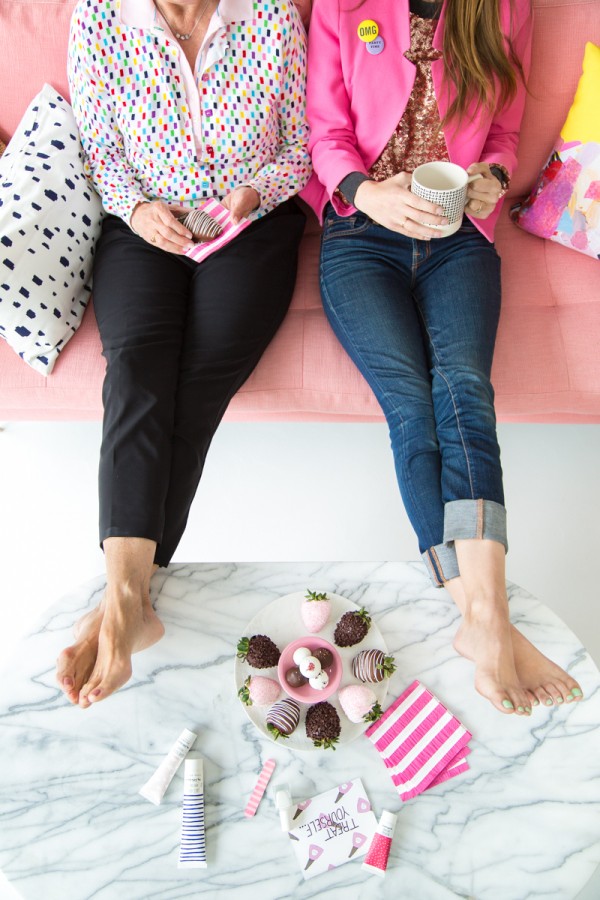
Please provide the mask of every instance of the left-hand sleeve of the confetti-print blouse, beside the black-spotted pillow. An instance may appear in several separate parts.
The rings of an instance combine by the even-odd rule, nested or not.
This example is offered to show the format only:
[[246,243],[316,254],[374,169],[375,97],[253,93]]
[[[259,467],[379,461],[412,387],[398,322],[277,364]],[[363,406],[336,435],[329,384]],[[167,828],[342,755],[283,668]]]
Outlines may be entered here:
[[85,169],[104,209],[129,224],[136,205],[147,198],[125,155],[107,86],[94,68],[84,10],[82,4],[75,8],[69,37],[67,69],[73,113],[85,154]]

